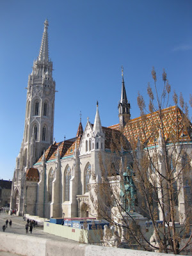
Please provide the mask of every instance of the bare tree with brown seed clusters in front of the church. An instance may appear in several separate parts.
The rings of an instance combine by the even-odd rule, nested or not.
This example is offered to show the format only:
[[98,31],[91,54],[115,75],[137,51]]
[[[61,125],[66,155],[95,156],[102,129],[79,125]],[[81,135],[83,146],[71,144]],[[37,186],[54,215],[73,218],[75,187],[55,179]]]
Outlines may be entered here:
[[[93,176],[97,186],[90,184],[90,198],[98,217],[115,225],[127,246],[178,254],[187,250],[192,236],[192,125],[182,93],[180,108],[175,92],[175,106],[169,105],[171,86],[166,72],[160,94],[154,68],[152,77],[154,89],[150,84],[147,87],[148,109],[138,93],[140,117],[114,131],[110,153],[100,154],[102,179]],[[141,216],[150,220],[151,239]]]

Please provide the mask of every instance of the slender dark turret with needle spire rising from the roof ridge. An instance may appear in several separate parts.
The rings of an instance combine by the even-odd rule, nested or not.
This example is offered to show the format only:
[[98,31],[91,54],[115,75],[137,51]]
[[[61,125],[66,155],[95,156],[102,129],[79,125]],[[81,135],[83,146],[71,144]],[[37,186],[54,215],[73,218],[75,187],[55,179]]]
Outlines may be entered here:
[[130,103],[127,100],[124,83],[124,68],[122,67],[122,94],[120,102],[118,103],[118,117],[121,127],[124,127],[128,120],[130,120]]

